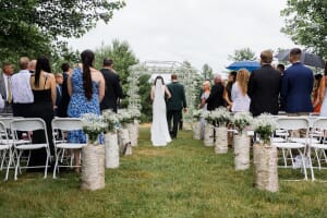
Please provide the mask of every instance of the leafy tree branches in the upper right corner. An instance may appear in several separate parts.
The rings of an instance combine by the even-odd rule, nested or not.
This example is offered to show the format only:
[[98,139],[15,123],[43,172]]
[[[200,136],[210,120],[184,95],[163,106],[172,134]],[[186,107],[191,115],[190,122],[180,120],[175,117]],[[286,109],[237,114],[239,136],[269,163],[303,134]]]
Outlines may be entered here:
[[288,0],[287,8],[280,13],[286,21],[282,33],[289,35],[295,44],[327,58],[326,0]]

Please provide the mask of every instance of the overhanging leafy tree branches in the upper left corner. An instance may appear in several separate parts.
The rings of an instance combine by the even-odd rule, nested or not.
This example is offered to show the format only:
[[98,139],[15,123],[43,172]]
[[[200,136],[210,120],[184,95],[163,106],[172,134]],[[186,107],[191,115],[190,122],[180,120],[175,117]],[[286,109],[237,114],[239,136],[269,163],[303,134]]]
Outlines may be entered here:
[[[109,22],[124,1],[0,0],[0,57],[56,56],[63,38],[81,37],[99,20]],[[17,59],[16,59],[17,60]]]

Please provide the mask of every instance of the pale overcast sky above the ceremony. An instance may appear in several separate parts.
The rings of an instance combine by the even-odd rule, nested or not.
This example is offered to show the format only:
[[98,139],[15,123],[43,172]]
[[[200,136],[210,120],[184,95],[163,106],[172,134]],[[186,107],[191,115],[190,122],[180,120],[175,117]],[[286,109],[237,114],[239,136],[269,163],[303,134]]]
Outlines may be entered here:
[[208,63],[214,73],[226,71],[235,49],[265,49],[295,45],[280,33],[280,11],[287,0],[126,0],[112,20],[99,22],[73,49],[96,49],[113,39],[126,40],[141,62],[187,60],[197,70]]

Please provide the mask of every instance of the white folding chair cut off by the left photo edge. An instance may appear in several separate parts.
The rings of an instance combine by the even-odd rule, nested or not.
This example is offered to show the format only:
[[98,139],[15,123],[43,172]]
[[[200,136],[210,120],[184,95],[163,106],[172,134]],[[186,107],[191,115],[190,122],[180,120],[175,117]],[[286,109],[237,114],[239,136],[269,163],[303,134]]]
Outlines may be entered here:
[[9,143],[7,128],[3,122],[0,121],[0,153],[1,153],[1,167],[3,169],[4,164],[7,164],[7,172],[4,180],[8,180],[9,169],[11,168],[13,161],[13,144]]

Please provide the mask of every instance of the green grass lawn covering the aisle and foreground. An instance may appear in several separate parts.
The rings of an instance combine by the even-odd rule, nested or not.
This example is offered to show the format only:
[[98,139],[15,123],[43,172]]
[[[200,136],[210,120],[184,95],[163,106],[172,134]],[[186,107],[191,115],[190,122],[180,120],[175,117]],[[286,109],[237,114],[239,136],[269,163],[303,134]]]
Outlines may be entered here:
[[[11,172],[0,182],[0,217],[327,217],[327,183],[280,181],[277,193],[259,191],[252,168],[234,171],[231,149],[216,155],[189,131],[153,147],[143,128],[138,144],[119,169],[106,170],[101,191],[81,191],[75,172],[57,180],[23,172],[17,181]],[[279,175],[302,178],[290,169]]]

